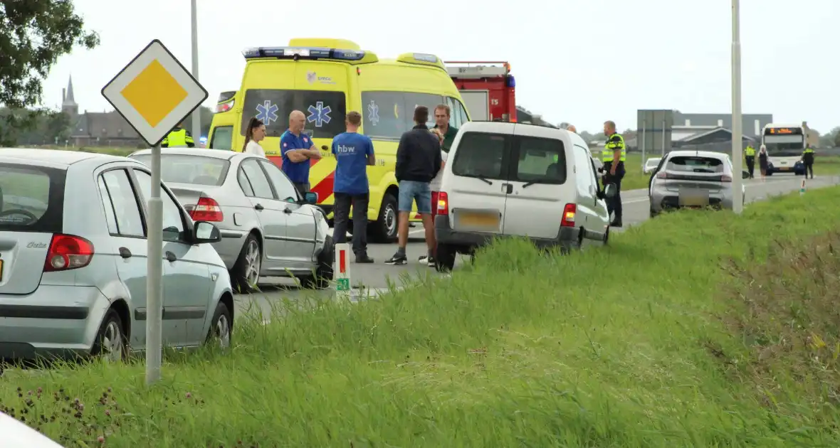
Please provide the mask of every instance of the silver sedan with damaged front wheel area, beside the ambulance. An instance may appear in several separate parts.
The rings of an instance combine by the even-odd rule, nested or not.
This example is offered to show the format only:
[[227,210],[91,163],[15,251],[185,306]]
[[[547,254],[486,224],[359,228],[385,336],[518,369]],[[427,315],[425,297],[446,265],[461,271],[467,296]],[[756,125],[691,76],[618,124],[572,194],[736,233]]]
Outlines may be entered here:
[[[129,157],[148,163],[150,149]],[[333,237],[318,195],[301,197],[270,160],[218,149],[166,148],[162,178],[192,214],[215,222],[213,244],[230,270],[234,290],[262,277],[296,277],[326,288],[333,278]]]

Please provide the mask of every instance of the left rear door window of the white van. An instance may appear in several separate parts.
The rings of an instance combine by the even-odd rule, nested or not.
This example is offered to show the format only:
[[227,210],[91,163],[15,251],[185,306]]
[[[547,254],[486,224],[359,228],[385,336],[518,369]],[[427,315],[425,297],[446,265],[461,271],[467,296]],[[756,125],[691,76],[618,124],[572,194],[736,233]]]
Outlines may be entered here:
[[507,180],[502,158],[507,136],[497,133],[464,133],[455,148],[452,173],[480,179]]

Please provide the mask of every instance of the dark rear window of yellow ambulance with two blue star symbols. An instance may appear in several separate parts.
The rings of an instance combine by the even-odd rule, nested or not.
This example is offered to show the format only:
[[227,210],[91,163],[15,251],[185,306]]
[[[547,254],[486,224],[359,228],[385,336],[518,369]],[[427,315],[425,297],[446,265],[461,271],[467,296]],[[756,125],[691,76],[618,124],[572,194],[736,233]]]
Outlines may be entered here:
[[239,133],[244,135],[250,118],[257,117],[265,123],[266,136],[280,137],[289,128],[289,114],[295,110],[307,117],[305,129],[312,138],[333,138],[346,130],[343,91],[251,89],[245,91]]

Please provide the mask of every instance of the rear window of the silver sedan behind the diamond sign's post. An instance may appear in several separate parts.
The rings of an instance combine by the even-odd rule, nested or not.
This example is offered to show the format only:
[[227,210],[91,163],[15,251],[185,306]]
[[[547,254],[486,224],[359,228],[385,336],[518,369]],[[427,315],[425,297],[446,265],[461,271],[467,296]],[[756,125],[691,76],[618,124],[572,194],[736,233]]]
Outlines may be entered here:
[[[133,155],[133,159],[151,166],[151,154]],[[160,178],[167,183],[222,185],[230,162],[215,157],[186,154],[160,154]]]

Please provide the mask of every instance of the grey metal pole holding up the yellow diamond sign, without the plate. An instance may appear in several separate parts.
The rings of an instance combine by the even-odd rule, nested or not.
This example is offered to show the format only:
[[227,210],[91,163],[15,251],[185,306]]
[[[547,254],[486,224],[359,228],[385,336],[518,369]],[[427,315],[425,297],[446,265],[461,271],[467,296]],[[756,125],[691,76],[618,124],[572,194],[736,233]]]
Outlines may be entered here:
[[152,189],[149,198],[149,236],[146,274],[146,384],[160,380],[163,356],[163,201],[160,201],[160,144],[152,147]]

